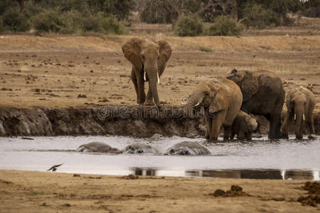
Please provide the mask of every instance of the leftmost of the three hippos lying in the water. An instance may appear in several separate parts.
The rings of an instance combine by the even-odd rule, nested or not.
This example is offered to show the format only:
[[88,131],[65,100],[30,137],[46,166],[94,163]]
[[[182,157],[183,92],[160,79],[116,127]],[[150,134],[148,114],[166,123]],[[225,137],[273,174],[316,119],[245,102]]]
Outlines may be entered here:
[[107,143],[102,142],[91,142],[82,144],[81,146],[79,146],[79,148],[76,149],[76,151],[84,153],[122,153],[122,151],[119,151],[119,149],[112,148],[111,146],[107,145]]

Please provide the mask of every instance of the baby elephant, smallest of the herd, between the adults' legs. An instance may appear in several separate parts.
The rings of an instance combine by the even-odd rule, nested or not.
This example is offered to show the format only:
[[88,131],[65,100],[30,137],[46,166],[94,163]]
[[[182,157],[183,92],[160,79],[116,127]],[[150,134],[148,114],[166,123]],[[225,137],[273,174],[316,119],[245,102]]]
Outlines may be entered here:
[[235,117],[235,120],[233,121],[230,139],[233,139],[236,134],[238,136],[238,139],[240,140],[251,140],[252,132],[257,132],[259,128],[260,124],[256,119],[240,110],[238,115]]

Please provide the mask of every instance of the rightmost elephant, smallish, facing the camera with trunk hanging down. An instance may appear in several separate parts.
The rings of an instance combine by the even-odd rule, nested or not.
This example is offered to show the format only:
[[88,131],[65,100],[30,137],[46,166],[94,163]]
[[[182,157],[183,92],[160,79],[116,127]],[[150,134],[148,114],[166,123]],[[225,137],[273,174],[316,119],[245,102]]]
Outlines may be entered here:
[[289,90],[286,97],[287,114],[282,124],[282,134],[284,138],[288,137],[289,123],[295,120],[295,134],[297,139],[302,139],[304,121],[309,127],[309,138],[314,138],[314,116],[312,111],[316,105],[314,94],[306,87],[299,87]]

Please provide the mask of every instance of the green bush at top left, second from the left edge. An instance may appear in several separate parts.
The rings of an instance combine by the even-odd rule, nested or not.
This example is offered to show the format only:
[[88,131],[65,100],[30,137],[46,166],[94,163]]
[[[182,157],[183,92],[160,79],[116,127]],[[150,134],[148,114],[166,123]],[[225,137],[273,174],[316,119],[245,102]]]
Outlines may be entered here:
[[65,24],[58,11],[43,11],[33,18],[33,27],[38,33],[60,33]]

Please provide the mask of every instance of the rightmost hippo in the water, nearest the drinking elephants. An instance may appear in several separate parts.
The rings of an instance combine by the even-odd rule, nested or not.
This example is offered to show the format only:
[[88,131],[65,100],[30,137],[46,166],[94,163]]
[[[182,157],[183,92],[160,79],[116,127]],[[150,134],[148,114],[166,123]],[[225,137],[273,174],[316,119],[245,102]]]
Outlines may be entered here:
[[177,143],[167,149],[165,155],[208,155],[208,148],[200,145],[197,142],[184,141]]

